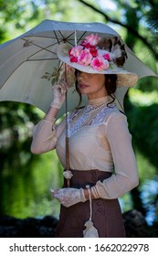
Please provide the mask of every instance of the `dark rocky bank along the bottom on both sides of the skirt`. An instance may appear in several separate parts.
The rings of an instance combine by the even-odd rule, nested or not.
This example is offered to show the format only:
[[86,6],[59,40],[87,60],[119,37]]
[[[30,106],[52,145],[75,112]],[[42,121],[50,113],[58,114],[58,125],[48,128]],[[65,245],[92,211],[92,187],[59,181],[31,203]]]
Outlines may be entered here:
[[[158,222],[149,226],[136,209],[122,214],[127,238],[157,238]],[[0,218],[1,238],[53,238],[58,219],[46,216],[43,219],[16,219],[5,216]]]

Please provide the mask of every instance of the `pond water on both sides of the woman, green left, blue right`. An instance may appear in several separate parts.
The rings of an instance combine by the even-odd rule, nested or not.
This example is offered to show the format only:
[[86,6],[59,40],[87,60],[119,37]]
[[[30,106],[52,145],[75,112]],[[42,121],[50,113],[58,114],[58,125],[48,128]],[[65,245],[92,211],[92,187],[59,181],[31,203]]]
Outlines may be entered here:
[[[8,165],[0,173],[1,214],[20,219],[47,215],[58,218],[59,203],[51,197],[49,189],[62,186],[62,167],[55,151],[34,157],[33,163],[23,165],[21,170]],[[141,195],[147,210],[146,220],[151,225],[158,214],[158,179],[147,180]],[[120,198],[120,202],[122,211],[131,209],[130,193]]]

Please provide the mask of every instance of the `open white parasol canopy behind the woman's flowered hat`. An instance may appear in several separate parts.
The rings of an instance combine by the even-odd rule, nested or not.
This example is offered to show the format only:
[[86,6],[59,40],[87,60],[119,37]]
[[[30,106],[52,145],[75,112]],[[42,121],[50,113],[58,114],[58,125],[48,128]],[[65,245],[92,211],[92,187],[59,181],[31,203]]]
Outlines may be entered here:
[[[101,23],[71,23],[45,20],[29,30],[0,45],[0,101],[18,101],[37,106],[47,112],[52,101],[51,83],[42,79],[61,66],[57,56],[58,44],[67,42],[74,46],[80,40],[97,33],[99,37],[120,35]],[[76,35],[76,37],[75,37]],[[77,42],[75,42],[77,40]],[[126,47],[128,59],[124,68],[135,72],[139,78],[157,76]],[[123,98],[128,87],[118,88],[116,97],[123,108]],[[86,103],[86,98],[83,99]],[[68,111],[78,105],[79,96],[74,88],[68,90]],[[65,112],[65,105],[58,116]]]

